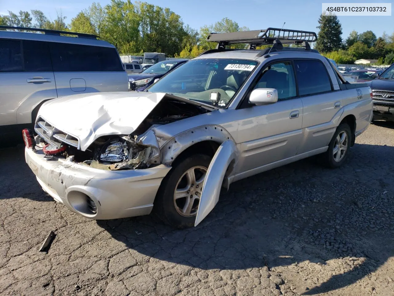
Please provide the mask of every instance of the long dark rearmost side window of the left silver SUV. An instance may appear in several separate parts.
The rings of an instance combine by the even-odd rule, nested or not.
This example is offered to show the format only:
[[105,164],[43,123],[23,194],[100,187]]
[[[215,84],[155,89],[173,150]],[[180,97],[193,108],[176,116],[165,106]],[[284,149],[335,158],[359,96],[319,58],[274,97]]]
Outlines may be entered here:
[[51,43],[55,72],[125,71],[115,48]]

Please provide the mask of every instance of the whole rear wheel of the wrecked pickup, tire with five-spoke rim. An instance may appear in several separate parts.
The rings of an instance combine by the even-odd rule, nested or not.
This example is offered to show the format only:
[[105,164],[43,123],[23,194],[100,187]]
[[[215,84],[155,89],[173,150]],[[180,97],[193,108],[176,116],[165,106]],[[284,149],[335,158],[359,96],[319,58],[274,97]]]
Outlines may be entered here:
[[[346,135],[346,138],[342,138]],[[349,149],[352,141],[351,129],[348,124],[340,124],[335,131],[330,144],[328,145],[328,150],[323,156],[323,163],[325,166],[335,169],[340,167],[346,160],[349,154]],[[334,149],[338,146],[338,143],[342,142],[342,149],[340,148],[338,152],[334,153]],[[340,153],[340,154],[338,154]]]

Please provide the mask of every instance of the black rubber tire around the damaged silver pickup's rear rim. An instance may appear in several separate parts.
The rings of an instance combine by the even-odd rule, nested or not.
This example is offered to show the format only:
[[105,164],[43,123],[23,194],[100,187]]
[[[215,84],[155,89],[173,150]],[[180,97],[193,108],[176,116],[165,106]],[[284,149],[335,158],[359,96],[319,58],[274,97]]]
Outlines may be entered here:
[[[347,135],[347,143],[345,145],[346,151],[344,152],[342,158],[339,161],[336,161],[334,158],[334,148],[335,148],[335,144],[336,144],[336,138],[338,137],[339,134],[341,134],[343,132],[345,132]],[[348,157],[348,154],[349,154],[349,149],[351,146],[352,137],[353,136],[351,133],[351,129],[348,124],[343,123],[343,124],[340,124],[340,126],[338,126],[336,128],[335,134],[334,134],[333,138],[331,139],[330,144],[328,145],[327,152],[322,154],[323,164],[326,167],[335,169],[337,167],[340,167],[346,161],[346,158]]]

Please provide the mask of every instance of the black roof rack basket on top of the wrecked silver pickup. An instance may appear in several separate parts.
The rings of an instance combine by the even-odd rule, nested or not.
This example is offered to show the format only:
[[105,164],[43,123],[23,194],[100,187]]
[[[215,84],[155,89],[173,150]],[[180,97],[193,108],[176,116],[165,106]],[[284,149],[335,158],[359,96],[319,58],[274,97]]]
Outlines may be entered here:
[[217,42],[217,49],[225,49],[226,45],[234,43],[247,43],[253,49],[258,45],[273,44],[275,40],[280,40],[282,43],[301,44],[302,42],[315,42],[317,37],[315,32],[310,31],[267,28],[266,30],[210,33],[206,39],[210,42]]

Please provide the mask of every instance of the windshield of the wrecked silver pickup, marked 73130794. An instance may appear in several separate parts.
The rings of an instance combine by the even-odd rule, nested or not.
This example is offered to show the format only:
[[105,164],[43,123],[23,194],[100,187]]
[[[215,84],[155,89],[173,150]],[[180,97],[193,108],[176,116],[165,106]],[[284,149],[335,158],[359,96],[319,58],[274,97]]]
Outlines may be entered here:
[[258,62],[229,58],[199,58],[174,69],[153,84],[149,92],[165,92],[212,105],[210,93],[220,94],[219,107],[226,107]]

